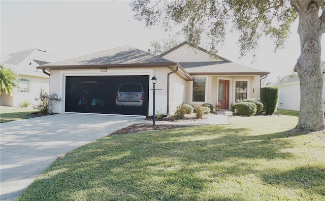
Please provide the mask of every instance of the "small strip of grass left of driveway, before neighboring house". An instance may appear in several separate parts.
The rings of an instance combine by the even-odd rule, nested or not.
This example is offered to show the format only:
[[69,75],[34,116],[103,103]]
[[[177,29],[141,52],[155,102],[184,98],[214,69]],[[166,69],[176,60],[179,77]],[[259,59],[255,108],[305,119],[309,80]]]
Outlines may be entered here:
[[31,112],[38,112],[38,110],[33,108],[1,107],[0,123],[31,118],[29,115]]

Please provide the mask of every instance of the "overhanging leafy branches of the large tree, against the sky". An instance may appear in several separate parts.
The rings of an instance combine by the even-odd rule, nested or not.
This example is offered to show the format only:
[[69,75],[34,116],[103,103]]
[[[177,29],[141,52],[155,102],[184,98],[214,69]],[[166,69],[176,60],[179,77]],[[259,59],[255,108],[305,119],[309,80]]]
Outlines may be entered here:
[[[168,30],[182,24],[185,39],[194,46],[204,36],[212,52],[224,42],[227,28],[236,29],[241,56],[255,50],[263,34],[274,39],[276,48],[283,47],[290,23],[298,17],[288,1],[179,0],[152,5],[148,0],[136,0],[131,7],[135,18],[148,27],[160,24]],[[232,27],[227,26],[230,23]]]

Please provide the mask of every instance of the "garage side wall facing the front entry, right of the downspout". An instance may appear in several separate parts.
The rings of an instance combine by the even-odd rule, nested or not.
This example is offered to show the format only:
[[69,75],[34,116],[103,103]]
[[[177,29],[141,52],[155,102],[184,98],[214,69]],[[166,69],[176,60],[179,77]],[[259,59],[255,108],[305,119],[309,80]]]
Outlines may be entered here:
[[175,114],[177,106],[186,103],[187,82],[177,74],[170,75],[169,114]]

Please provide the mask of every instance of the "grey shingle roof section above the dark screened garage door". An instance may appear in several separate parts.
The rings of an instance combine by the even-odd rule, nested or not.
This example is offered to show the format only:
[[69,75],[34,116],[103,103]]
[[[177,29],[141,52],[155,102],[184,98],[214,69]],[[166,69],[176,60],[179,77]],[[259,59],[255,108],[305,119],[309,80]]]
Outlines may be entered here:
[[105,64],[135,64],[135,63],[161,63],[170,60],[152,55],[131,46],[122,46],[77,58],[44,64],[43,66],[64,65],[105,65]]

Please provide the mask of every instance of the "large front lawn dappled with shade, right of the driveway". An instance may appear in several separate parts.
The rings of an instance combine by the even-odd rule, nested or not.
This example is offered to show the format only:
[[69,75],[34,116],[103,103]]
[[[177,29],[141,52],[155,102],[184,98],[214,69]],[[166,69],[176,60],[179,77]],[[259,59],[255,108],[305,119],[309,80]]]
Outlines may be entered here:
[[17,200],[325,200],[325,134],[294,116],[232,117],[106,137],[56,160]]

